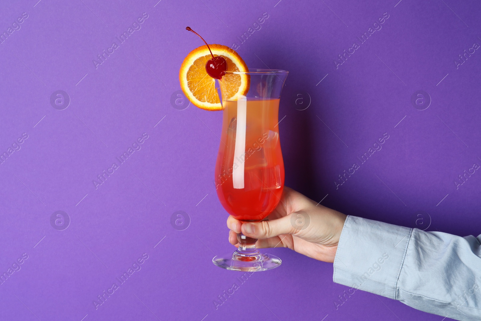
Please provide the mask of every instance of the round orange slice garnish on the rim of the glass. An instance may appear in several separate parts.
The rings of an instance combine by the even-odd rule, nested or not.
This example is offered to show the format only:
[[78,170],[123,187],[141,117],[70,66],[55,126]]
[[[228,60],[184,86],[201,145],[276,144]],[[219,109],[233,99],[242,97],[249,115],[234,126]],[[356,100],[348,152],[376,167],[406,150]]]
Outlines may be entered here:
[[[247,65],[241,56],[223,45],[209,45],[214,56],[222,56],[227,61],[228,71],[247,72]],[[212,56],[206,45],[189,52],[180,66],[180,88],[191,103],[206,110],[222,110],[215,79],[205,71],[205,64]],[[249,90],[249,76],[227,74],[222,77],[225,99],[236,100]]]

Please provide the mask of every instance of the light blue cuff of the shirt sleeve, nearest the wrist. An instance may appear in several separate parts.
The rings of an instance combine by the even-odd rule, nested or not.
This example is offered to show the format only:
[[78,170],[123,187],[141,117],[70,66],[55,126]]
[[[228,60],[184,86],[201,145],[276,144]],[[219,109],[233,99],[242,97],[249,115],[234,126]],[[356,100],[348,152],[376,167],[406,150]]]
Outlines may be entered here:
[[396,299],[411,232],[407,227],[348,215],[334,258],[333,281]]

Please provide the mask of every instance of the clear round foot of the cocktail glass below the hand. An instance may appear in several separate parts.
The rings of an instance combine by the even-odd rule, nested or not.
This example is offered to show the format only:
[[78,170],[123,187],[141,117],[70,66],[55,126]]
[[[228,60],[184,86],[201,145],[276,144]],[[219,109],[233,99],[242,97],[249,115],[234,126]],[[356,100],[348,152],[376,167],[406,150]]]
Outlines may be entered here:
[[233,254],[216,256],[212,262],[219,268],[233,271],[265,271],[277,268],[282,261],[280,258],[257,252],[255,255],[242,255],[238,251]]

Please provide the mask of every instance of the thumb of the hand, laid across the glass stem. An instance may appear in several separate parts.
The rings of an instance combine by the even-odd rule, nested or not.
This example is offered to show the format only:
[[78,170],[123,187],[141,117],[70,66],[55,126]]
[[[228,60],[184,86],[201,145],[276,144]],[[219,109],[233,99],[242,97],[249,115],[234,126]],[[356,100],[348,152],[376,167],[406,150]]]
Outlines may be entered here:
[[254,239],[268,239],[282,234],[295,234],[299,231],[292,225],[292,217],[295,214],[294,212],[274,220],[242,223],[241,231],[245,236]]

